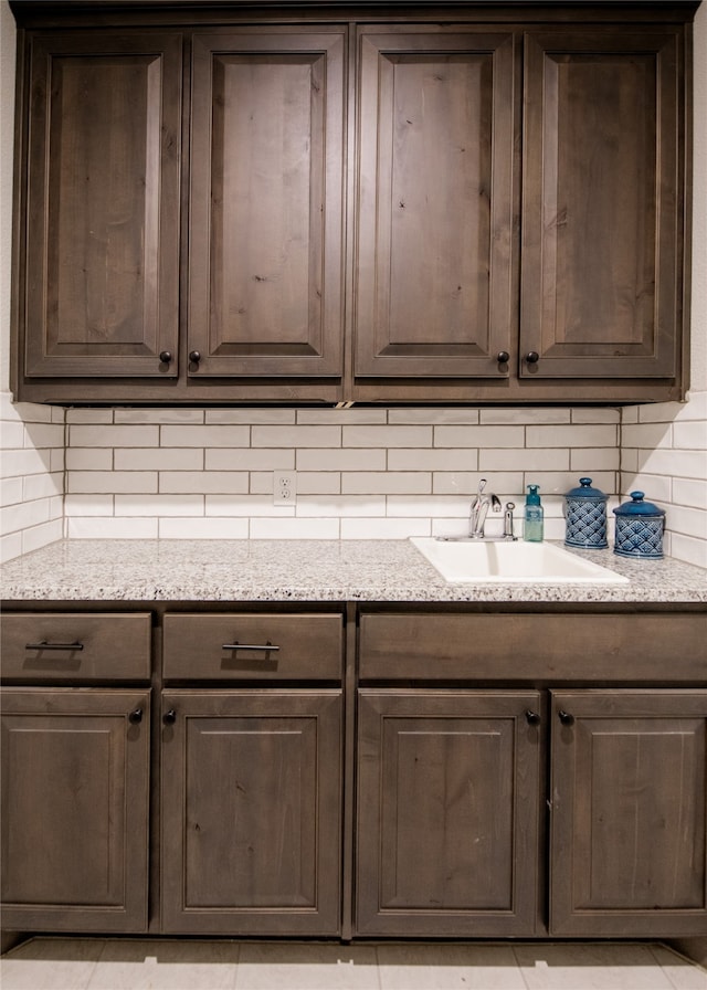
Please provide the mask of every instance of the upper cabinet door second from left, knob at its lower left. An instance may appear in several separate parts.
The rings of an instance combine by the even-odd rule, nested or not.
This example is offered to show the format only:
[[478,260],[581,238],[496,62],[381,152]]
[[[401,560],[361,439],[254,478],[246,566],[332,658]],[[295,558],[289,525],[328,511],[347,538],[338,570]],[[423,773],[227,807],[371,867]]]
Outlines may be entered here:
[[193,39],[192,376],[340,376],[345,27]]

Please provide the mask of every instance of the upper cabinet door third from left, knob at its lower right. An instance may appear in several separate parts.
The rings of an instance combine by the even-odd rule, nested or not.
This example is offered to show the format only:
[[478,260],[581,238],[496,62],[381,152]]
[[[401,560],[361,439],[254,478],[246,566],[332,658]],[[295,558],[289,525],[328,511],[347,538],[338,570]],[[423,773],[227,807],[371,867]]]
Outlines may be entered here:
[[355,372],[507,377],[514,35],[370,28],[358,54]]

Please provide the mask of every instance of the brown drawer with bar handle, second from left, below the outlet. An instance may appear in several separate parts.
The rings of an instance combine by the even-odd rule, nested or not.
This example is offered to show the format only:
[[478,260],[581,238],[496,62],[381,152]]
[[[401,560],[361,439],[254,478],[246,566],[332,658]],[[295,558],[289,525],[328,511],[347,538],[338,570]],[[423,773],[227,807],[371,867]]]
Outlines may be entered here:
[[179,681],[340,680],[341,615],[165,617],[163,675]]

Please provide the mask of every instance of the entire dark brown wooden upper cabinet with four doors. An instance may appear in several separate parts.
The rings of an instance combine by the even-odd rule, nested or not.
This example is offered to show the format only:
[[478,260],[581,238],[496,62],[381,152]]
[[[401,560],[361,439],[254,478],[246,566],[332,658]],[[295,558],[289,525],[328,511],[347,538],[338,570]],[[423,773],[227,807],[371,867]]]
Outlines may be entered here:
[[15,396],[684,398],[696,6],[12,0]]

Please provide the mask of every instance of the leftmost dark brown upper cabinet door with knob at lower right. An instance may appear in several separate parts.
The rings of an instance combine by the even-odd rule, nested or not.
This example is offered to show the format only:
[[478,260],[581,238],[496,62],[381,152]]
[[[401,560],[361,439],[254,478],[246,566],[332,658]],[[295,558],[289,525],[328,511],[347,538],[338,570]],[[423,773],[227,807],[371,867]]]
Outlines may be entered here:
[[30,86],[24,373],[176,375],[181,35],[38,35]]

